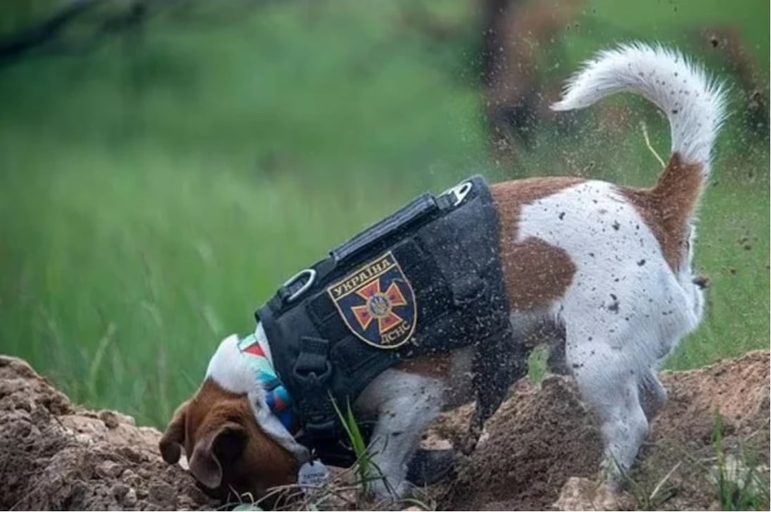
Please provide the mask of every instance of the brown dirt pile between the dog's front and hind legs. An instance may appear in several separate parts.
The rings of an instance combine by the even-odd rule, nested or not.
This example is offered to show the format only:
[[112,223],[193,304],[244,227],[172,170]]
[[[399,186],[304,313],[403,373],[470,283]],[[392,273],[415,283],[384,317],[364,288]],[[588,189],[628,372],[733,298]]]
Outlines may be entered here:
[[[455,435],[467,424],[457,422]],[[451,432],[447,425],[443,429]],[[486,430],[439,498],[445,507],[542,510],[554,503],[568,477],[591,477],[600,462],[597,424],[565,379],[547,379],[538,387],[520,383]]]

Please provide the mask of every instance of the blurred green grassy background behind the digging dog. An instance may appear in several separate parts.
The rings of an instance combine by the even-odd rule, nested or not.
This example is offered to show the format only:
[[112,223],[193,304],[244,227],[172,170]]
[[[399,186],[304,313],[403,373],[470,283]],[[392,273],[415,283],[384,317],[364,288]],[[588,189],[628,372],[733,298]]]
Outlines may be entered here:
[[676,45],[730,87],[668,362],[769,349],[767,0],[5,0],[0,352],[161,426],[285,278],[426,190],[648,186],[665,118],[547,109],[598,49]]

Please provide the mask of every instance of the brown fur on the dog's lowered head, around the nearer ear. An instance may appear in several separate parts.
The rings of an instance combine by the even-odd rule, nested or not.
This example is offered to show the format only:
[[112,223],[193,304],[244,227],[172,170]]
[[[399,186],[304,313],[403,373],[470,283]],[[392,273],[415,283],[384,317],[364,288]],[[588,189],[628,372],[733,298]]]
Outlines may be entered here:
[[262,431],[247,397],[228,392],[211,379],[204,382],[194,399],[183,403],[174,414],[160,440],[164,460],[177,463],[179,449],[175,446],[180,445],[190,457],[198,443],[204,443],[222,426],[232,423],[246,431],[247,441],[241,453],[227,462],[220,461],[223,477],[215,493],[227,493],[233,487],[241,493],[261,496],[269,487],[295,481],[298,466],[295,456]]

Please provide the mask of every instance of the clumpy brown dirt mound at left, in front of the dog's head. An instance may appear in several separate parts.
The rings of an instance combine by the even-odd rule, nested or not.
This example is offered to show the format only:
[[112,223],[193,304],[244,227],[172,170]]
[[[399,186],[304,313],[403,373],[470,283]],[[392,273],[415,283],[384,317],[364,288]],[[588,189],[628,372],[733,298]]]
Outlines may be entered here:
[[214,510],[160,433],[73,406],[20,359],[0,357],[0,509]]

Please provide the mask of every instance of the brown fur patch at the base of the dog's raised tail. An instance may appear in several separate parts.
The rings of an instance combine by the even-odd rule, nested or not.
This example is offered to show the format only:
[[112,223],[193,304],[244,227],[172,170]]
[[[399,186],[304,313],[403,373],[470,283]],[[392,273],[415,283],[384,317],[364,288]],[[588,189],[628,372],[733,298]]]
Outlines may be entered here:
[[653,188],[621,187],[621,194],[634,205],[650,227],[669,267],[682,263],[689,237],[689,221],[704,190],[701,163],[685,163],[674,153]]

